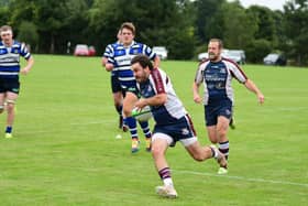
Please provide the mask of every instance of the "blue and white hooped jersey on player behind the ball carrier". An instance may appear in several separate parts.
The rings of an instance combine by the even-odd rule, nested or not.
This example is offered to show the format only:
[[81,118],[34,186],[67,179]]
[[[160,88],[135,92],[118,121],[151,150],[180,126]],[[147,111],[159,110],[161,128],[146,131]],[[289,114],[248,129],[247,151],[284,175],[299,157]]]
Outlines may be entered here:
[[113,71],[118,72],[120,82],[134,80],[134,75],[131,69],[131,61],[138,54],[144,54],[151,59],[154,59],[156,54],[145,44],[132,42],[129,47],[124,47],[122,44],[113,44],[106,53],[108,62],[114,65]]

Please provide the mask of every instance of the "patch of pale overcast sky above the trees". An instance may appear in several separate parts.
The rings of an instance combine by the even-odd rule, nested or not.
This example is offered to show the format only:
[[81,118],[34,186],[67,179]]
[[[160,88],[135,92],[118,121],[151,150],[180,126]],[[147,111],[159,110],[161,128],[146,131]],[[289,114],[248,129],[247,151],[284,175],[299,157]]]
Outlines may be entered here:
[[[228,1],[233,1],[233,0],[228,0]],[[244,8],[249,8],[252,4],[257,4],[257,6],[267,7],[272,10],[282,10],[282,11],[286,1],[287,0],[240,0],[241,4]]]

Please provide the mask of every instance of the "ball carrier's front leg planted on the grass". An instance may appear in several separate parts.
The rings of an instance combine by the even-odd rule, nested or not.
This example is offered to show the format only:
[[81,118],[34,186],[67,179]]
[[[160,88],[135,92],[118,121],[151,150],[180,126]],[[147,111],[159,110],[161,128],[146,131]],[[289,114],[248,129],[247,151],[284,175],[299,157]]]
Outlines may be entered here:
[[152,137],[152,156],[158,175],[164,183],[163,186],[156,187],[156,193],[164,197],[176,198],[177,193],[165,158],[166,150],[170,143],[173,143],[173,139],[169,135],[160,132],[154,133]]

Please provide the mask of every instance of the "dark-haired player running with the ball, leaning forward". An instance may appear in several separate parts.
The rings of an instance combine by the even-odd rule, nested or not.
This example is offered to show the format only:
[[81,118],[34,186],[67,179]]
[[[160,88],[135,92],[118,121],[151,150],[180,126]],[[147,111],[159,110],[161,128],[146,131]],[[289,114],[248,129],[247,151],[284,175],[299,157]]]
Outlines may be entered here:
[[166,73],[154,67],[145,55],[132,59],[132,71],[138,82],[136,93],[142,96],[132,104],[140,109],[150,106],[156,123],[152,135],[152,156],[164,184],[156,187],[156,193],[168,198],[177,197],[165,158],[168,147],[175,147],[177,141],[196,161],[215,158],[221,167],[227,167],[224,155],[216,147],[201,147],[198,142],[191,119]]

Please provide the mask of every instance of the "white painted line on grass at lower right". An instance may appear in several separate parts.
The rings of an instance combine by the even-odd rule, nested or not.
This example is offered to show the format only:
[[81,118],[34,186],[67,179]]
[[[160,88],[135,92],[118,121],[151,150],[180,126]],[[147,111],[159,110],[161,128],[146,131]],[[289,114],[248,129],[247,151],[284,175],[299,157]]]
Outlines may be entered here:
[[219,174],[211,174],[211,173],[204,173],[204,172],[195,172],[195,171],[178,171],[173,170],[176,173],[183,173],[183,174],[195,174],[195,175],[202,175],[202,176],[216,176],[220,178],[230,178],[230,180],[240,180],[240,181],[246,181],[246,182],[258,182],[258,183],[272,183],[272,184],[280,184],[280,185],[295,185],[295,186],[304,186],[308,187],[308,183],[294,183],[294,182],[287,182],[287,181],[274,181],[274,180],[265,180],[265,178],[250,178],[244,176],[232,176],[232,175],[219,175]]

